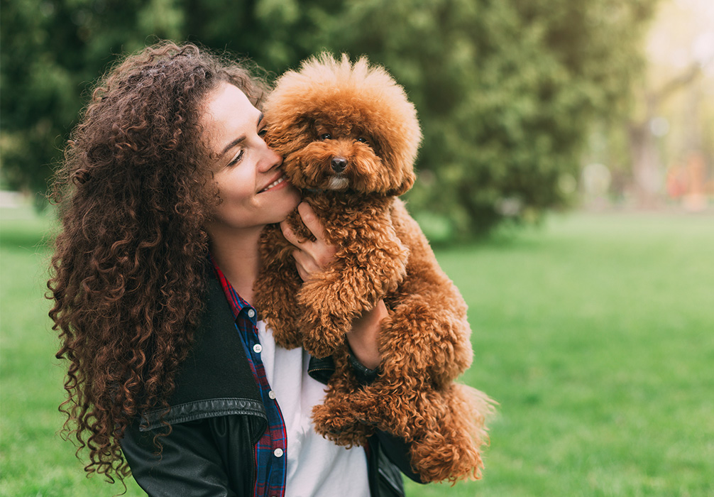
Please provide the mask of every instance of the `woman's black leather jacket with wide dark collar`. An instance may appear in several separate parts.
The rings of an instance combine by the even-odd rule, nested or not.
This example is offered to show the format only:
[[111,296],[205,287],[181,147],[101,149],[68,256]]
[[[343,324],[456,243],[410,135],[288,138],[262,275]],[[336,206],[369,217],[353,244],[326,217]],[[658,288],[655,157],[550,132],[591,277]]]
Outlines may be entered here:
[[[149,496],[253,495],[254,447],[267,417],[233,313],[213,271],[208,273],[206,309],[193,350],[176,376],[171,410],[163,421],[161,410],[146,413],[143,422],[137,418],[121,440],[131,472]],[[333,370],[330,358],[310,362],[309,373],[323,383]],[[154,436],[166,431],[165,423],[171,433],[159,438],[162,449],[156,453]],[[373,497],[403,496],[401,471],[418,481],[403,441],[377,433],[368,454]]]

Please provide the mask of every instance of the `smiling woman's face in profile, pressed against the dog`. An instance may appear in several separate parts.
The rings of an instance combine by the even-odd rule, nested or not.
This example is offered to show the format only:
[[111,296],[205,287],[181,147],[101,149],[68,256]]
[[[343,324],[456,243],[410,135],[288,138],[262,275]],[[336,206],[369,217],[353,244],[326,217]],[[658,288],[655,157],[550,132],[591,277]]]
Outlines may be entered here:
[[283,174],[281,156],[263,141],[263,114],[243,91],[224,83],[208,95],[201,117],[203,139],[221,204],[206,229],[238,233],[286,218],[300,201]]

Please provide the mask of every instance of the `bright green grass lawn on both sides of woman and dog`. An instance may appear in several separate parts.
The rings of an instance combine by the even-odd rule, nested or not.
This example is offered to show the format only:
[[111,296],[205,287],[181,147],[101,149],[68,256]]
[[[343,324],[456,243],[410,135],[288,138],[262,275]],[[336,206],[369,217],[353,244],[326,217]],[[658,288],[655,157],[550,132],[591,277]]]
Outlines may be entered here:
[[[0,214],[0,495],[121,493],[56,435],[48,222]],[[500,406],[482,481],[408,495],[714,495],[714,217],[573,214],[438,258],[470,308],[463,379]]]

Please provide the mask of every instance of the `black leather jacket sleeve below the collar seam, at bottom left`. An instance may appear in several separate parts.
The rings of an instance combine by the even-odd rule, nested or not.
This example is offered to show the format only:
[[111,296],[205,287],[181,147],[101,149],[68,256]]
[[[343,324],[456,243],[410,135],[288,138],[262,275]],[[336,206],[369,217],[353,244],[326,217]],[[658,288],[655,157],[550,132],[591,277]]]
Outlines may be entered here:
[[[218,416],[172,425],[171,433],[126,428],[121,449],[139,486],[151,497],[234,497],[251,495],[252,444],[240,416]],[[243,453],[240,453],[241,447]],[[250,453],[248,453],[250,452]],[[246,489],[248,492],[246,493]]]

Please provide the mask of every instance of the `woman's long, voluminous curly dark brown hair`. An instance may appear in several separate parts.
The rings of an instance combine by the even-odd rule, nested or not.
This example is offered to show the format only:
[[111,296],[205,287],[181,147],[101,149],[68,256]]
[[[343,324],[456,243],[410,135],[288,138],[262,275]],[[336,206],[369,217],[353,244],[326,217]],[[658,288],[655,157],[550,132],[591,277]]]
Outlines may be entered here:
[[62,231],[47,283],[69,361],[63,433],[89,448],[87,473],[129,475],[119,438],[168,408],[198,325],[218,201],[199,116],[221,82],[259,106],[256,66],[162,41],[99,81],[71,134],[52,197]]

